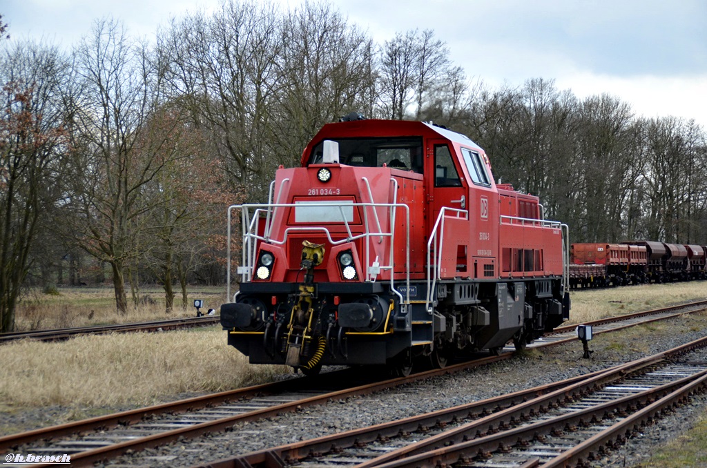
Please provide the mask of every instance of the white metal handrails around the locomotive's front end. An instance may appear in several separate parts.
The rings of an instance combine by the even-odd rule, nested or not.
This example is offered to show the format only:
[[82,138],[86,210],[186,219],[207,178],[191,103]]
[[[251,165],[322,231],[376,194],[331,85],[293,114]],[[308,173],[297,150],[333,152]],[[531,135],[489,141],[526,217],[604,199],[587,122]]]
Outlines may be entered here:
[[[343,233],[338,233],[335,234],[334,236],[337,237],[334,239],[334,236],[332,236],[331,231],[329,228],[326,226],[288,226],[287,228],[284,229],[282,233],[282,238],[273,238],[272,237],[272,227],[273,223],[276,221],[276,217],[274,216],[274,213],[278,209],[296,209],[297,207],[301,207],[301,204],[294,204],[294,203],[288,203],[288,204],[278,204],[278,203],[269,203],[269,204],[242,204],[242,205],[231,205],[228,207],[228,228],[227,228],[227,249],[226,249],[226,256],[227,256],[227,264],[226,264],[226,297],[230,298],[230,283],[231,283],[231,249],[230,249],[230,244],[231,244],[231,238],[232,238],[232,233],[231,233],[231,225],[233,224],[233,211],[235,210],[240,210],[241,214],[241,227],[242,227],[242,239],[243,239],[243,244],[242,244],[242,263],[240,267],[238,267],[238,274],[241,275],[241,281],[243,282],[249,282],[252,280],[252,269],[255,265],[255,257],[257,255],[257,242],[267,242],[269,244],[274,244],[274,245],[284,245],[287,242],[287,239],[290,235],[290,233],[297,233],[297,232],[306,232],[306,233],[312,233],[312,232],[320,232],[324,233],[327,237],[327,241],[331,243],[332,245],[341,245],[346,242],[351,242],[353,240],[358,240],[358,239],[364,239],[365,241],[363,242],[364,245],[364,268],[365,268],[365,281],[367,282],[375,282],[375,276],[377,274],[374,274],[371,267],[373,267],[373,263],[378,262],[378,256],[375,257],[374,262],[371,262],[370,258],[370,238],[374,237],[380,237],[382,238],[390,238],[390,249],[389,249],[389,255],[388,255],[388,264],[386,265],[378,265],[376,268],[379,270],[390,270],[390,289],[393,293],[395,293],[401,302],[403,304],[409,304],[410,303],[410,271],[409,269],[406,269],[405,271],[405,285],[406,287],[406,294],[405,297],[403,298],[402,294],[400,294],[396,289],[395,289],[395,284],[394,284],[394,276],[395,276],[395,264],[394,264],[394,255],[395,255],[395,216],[397,216],[397,209],[404,209],[405,213],[405,252],[406,252],[406,264],[409,264],[410,262],[410,208],[407,206],[407,204],[400,204],[400,203],[351,203],[351,204],[346,204],[346,208],[352,207],[354,209],[356,208],[362,208],[361,212],[363,213],[363,233],[356,233],[355,235],[353,234],[353,231],[351,230],[351,222],[346,219],[346,216],[344,216],[344,206],[341,205],[339,202],[332,202],[332,201],[311,201],[308,202],[307,206],[309,208],[312,207],[328,207],[332,208],[332,206],[337,206],[339,208],[339,214],[341,215],[341,221],[337,221],[337,225],[341,226],[343,224],[346,228],[346,234],[344,235],[343,238],[339,238],[339,236],[343,235]],[[382,229],[378,229],[378,232],[374,232],[370,229],[370,223],[368,222],[368,211],[369,209],[373,209],[372,211],[376,213],[377,209],[387,209],[389,211],[389,216],[390,216],[390,232],[384,232]],[[251,215],[252,211],[252,215]],[[263,215],[263,216],[261,216]],[[259,230],[259,221],[264,218],[267,225],[264,228],[264,233],[267,233],[266,235],[258,235],[258,230]],[[380,226],[380,222],[378,222],[378,215],[376,213],[375,216],[376,220],[376,227]]]

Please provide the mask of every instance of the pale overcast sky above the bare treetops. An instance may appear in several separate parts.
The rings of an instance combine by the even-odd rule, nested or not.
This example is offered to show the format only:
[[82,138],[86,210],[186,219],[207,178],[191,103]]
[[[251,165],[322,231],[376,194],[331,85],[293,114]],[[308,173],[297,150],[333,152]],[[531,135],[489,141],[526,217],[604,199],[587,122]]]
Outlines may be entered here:
[[[301,0],[279,1],[284,8]],[[170,16],[221,0],[0,0],[12,40],[71,47],[113,16],[153,37]],[[555,80],[583,98],[609,93],[637,115],[673,115],[707,128],[707,1],[330,0],[376,42],[431,28],[455,64],[489,86]],[[404,5],[404,7],[402,7]]]

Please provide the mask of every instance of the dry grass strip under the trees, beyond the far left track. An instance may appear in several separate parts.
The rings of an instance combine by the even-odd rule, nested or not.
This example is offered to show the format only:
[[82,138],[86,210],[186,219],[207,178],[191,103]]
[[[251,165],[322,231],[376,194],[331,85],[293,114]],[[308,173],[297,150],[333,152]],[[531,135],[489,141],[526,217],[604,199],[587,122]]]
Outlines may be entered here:
[[175,297],[174,309],[169,315],[165,314],[165,296],[160,288],[146,288],[141,291],[141,301],[137,308],[128,298],[129,306],[126,315],[117,313],[112,288],[59,288],[56,291],[57,293],[53,294],[45,294],[39,290],[30,291],[21,300],[16,312],[18,331],[190,317],[196,315],[196,309],[192,307],[193,299],[204,299],[207,309],[218,310],[218,306],[223,303],[225,288],[192,288],[189,291],[189,303],[184,309],[182,296],[179,293]]

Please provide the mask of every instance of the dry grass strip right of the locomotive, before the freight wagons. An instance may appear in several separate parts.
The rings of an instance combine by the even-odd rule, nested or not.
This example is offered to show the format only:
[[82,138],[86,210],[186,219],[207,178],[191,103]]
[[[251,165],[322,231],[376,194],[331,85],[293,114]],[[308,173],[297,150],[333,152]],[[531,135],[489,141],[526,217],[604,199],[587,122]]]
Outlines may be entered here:
[[572,291],[572,310],[566,324],[589,322],[631,312],[707,299],[707,281],[626,286]]

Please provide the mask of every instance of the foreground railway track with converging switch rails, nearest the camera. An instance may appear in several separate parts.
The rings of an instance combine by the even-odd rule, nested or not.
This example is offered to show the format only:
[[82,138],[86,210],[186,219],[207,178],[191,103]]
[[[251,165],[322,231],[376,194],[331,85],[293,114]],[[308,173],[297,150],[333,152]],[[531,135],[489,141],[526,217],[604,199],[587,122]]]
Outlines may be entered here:
[[702,390],[705,346],[707,337],[592,375],[202,466],[575,466]]

